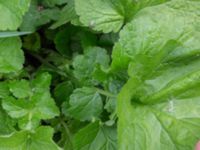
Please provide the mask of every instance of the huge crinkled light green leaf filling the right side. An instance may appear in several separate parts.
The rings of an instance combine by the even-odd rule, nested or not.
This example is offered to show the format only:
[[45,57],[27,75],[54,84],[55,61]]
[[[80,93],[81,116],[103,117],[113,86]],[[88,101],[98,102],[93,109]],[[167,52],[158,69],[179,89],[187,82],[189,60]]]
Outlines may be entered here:
[[199,1],[173,0],[141,10],[122,31],[112,64],[129,65],[120,150],[191,150],[200,139],[199,13]]

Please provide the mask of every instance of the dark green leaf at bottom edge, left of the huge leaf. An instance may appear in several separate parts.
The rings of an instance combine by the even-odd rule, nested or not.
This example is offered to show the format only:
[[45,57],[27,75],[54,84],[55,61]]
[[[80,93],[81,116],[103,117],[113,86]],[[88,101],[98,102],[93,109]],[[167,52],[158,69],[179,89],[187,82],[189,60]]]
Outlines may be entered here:
[[116,128],[91,123],[75,134],[74,150],[117,150],[116,137]]

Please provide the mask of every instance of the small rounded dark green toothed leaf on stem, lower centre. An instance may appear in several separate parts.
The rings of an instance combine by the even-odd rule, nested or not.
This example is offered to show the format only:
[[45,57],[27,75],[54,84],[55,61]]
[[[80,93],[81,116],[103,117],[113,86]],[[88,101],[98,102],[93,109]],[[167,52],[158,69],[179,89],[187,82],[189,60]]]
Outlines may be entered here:
[[81,121],[94,120],[103,110],[103,102],[95,88],[83,87],[74,90],[70,96],[67,112]]

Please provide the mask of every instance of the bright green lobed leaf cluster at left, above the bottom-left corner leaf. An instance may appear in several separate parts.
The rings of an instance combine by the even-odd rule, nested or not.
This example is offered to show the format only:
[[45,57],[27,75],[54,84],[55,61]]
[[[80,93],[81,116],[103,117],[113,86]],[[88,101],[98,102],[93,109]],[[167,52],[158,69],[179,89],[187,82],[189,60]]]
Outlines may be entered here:
[[[41,119],[51,119],[59,114],[49,92],[50,81],[51,76],[43,73],[30,83],[31,91],[25,80],[15,81],[11,84],[11,92],[20,98],[6,97],[2,101],[2,106],[9,116],[18,119],[21,129],[34,129],[39,125]],[[22,85],[22,89],[17,87],[19,84]],[[24,93],[20,95],[23,91]]]

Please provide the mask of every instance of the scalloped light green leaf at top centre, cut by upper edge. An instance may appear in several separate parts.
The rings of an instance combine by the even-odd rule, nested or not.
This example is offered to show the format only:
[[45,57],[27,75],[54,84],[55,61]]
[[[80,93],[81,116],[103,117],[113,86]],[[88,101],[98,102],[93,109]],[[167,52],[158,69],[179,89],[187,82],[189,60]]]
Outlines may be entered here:
[[90,28],[118,32],[141,9],[168,0],[75,0],[75,10],[80,21]]

